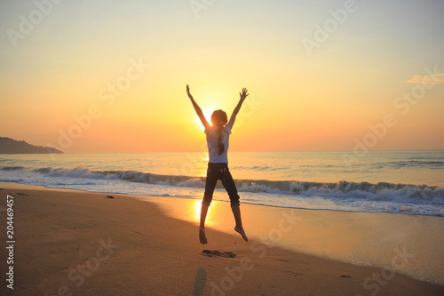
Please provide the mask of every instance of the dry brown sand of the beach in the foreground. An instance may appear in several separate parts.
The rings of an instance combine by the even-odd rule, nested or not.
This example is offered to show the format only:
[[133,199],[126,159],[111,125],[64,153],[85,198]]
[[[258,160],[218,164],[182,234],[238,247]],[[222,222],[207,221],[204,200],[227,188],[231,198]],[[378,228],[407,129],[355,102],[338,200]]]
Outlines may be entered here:
[[[391,268],[361,267],[292,252],[262,244],[254,236],[246,243],[241,236],[211,225],[207,228],[210,243],[202,245],[193,222],[173,219],[160,205],[140,197],[0,185],[2,250],[7,246],[4,210],[8,195],[14,200],[15,239],[14,289],[6,287],[3,251],[2,295],[444,293],[443,285],[395,274]],[[179,211],[180,204],[177,207]],[[248,208],[242,204],[242,211],[249,212]],[[267,220],[268,207],[261,208],[260,220]],[[297,220],[287,222],[278,223],[276,237]],[[400,265],[403,260],[400,254],[392,262]]]

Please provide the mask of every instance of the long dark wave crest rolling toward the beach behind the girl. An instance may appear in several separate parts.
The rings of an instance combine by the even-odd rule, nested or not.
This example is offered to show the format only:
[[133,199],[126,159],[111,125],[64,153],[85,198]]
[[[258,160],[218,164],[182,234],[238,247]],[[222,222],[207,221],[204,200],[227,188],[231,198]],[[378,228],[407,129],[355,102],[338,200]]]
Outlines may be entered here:
[[[73,169],[39,168],[32,172],[52,178],[125,180],[182,188],[204,188],[204,177],[160,175],[137,171],[91,171],[83,166]],[[327,197],[338,201],[390,201],[408,204],[444,205],[444,188],[427,185],[339,181],[337,183],[297,180],[234,180],[240,192],[285,196]],[[222,188],[218,182],[217,188]]]

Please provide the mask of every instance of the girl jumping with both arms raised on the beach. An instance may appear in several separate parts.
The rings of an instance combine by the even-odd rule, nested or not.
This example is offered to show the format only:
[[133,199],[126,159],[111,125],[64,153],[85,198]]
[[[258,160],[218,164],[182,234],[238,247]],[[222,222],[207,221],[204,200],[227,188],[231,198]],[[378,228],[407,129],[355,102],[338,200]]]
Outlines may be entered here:
[[[237,188],[234,184],[233,177],[228,170],[228,146],[231,129],[234,125],[239,110],[242,107],[243,101],[248,97],[247,89],[243,88],[241,100],[234,108],[233,115],[230,117],[230,121],[227,121],[226,113],[222,110],[216,110],[211,115],[211,124],[207,122],[205,116],[203,116],[202,109],[197,105],[193,96],[190,93],[190,87],[186,84],[186,93],[193,103],[193,107],[197,116],[202,121],[205,127],[205,134],[207,136],[207,146],[210,161],[208,163],[207,178],[205,180],[205,193],[203,194],[202,208],[201,208],[201,224],[199,226],[199,240],[201,244],[207,244],[207,237],[205,236],[205,219],[207,218],[208,208],[213,198],[214,188],[216,183],[221,180],[222,185],[226,188],[228,196],[230,196],[231,209],[234,214],[234,220],[236,226],[234,230],[237,231],[242,238],[248,242],[248,237],[242,227],[241,209],[239,207],[239,195],[237,194]],[[228,123],[227,123],[228,122]]]

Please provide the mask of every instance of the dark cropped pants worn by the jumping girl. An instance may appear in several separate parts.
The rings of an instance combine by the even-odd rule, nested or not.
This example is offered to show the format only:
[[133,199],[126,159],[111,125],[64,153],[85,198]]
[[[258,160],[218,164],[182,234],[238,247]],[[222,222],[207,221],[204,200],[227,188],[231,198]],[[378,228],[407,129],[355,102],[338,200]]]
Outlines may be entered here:
[[205,193],[203,194],[202,204],[210,206],[211,200],[213,199],[214,188],[216,188],[218,180],[220,180],[224,188],[226,188],[226,192],[228,196],[230,196],[231,205],[239,205],[237,188],[228,170],[228,164],[226,163],[208,163],[207,180],[205,181]]

